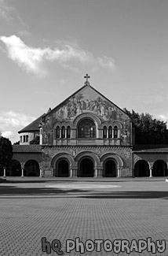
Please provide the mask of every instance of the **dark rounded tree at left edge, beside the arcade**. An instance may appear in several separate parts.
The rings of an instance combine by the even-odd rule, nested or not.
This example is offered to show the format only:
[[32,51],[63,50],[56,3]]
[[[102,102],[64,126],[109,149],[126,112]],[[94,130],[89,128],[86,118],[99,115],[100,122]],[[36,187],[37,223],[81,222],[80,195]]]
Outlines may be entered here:
[[0,136],[0,168],[8,167],[13,158],[13,147],[9,139]]

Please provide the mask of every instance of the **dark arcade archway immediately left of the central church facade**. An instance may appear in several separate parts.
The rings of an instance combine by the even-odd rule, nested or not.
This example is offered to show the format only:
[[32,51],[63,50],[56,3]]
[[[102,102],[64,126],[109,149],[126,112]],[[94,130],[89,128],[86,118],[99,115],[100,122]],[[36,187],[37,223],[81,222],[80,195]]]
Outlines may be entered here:
[[24,176],[40,176],[40,168],[38,162],[29,160],[24,165]]

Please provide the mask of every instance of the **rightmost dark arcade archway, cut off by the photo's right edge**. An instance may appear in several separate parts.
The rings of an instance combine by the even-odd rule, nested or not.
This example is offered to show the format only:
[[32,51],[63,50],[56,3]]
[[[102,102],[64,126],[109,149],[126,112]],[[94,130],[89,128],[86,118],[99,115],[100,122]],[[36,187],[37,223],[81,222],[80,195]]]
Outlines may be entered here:
[[167,165],[165,161],[155,161],[153,165],[152,176],[167,176]]

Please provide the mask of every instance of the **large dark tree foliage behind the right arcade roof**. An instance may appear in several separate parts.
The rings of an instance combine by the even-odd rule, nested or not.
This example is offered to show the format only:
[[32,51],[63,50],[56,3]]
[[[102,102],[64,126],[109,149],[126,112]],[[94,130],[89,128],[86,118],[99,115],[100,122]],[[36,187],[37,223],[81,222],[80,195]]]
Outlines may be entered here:
[[166,122],[153,118],[149,113],[132,113],[124,109],[130,117],[135,131],[135,144],[167,144]]

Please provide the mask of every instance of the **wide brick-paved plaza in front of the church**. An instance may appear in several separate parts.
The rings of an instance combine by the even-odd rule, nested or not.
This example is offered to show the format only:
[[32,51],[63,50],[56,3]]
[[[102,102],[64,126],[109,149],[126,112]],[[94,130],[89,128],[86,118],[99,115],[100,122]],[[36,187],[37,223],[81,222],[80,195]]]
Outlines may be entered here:
[[[1,256],[58,255],[61,251],[82,255],[75,250],[82,250],[81,242],[85,255],[117,255],[121,239],[122,245],[127,240],[134,246],[130,255],[168,255],[168,183],[164,177],[8,177],[0,184],[0,192]],[[138,246],[138,239],[147,243],[149,238],[155,245],[157,240],[159,245],[166,240],[166,250],[159,252],[162,247],[154,248],[152,243],[149,249],[156,249],[152,254],[141,243],[141,253],[136,252],[131,241],[137,240]],[[115,251],[109,251],[111,245]],[[125,250],[118,255],[127,254]]]

